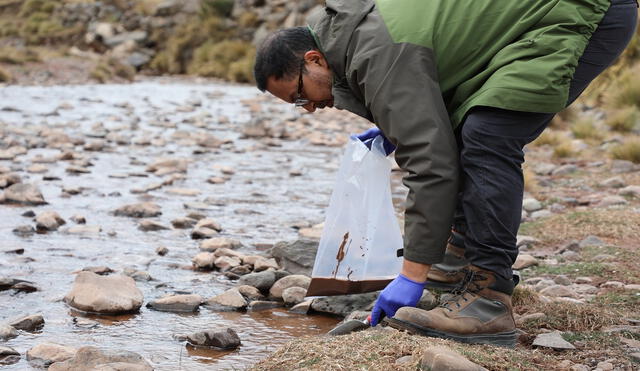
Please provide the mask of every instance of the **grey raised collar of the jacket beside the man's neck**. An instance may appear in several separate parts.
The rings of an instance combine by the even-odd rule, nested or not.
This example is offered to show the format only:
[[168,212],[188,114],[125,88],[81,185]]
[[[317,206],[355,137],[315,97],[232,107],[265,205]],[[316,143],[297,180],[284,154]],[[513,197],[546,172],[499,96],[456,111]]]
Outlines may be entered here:
[[335,75],[345,75],[345,56],[353,30],[371,12],[374,0],[327,0],[326,7],[312,14],[309,28]]

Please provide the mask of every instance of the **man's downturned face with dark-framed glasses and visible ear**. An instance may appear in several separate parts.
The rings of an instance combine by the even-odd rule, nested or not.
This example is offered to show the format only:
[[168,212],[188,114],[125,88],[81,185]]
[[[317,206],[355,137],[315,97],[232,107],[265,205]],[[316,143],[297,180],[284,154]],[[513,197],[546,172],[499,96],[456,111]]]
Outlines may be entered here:
[[[288,103],[296,99],[307,100],[304,109],[313,112],[316,108],[333,107],[331,94],[331,70],[322,53],[310,50],[304,55],[305,72],[276,80],[273,76],[267,79],[267,91]],[[298,96],[298,92],[300,95]]]

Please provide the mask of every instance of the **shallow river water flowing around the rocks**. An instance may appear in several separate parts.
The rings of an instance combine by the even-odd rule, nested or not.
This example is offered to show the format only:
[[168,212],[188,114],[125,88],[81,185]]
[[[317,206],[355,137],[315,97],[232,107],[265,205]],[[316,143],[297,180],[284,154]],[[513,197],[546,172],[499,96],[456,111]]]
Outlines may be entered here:
[[[34,313],[42,313],[46,321],[42,331],[21,332],[4,343],[23,355],[19,363],[6,369],[28,369],[25,352],[46,341],[131,350],[149,359],[158,370],[245,368],[293,337],[325,333],[337,323],[336,318],[294,315],[284,309],[218,313],[202,308],[197,314],[184,315],[143,307],[135,315],[89,316],[98,325],[87,328],[75,320],[83,315],[61,301],[73,283],[72,272],[96,265],[116,271],[134,268],[149,272],[153,280],[137,282],[145,303],[167,293],[196,293],[208,298],[234,285],[219,273],[190,269],[190,260],[198,252],[198,242],[190,238],[190,229],[142,232],[137,229],[138,220],[111,214],[125,204],[158,203],[162,215],[154,220],[168,227],[175,218],[200,212],[222,225],[222,236],[240,240],[244,245],[241,251],[253,253],[278,241],[295,240],[298,234],[293,225],[323,220],[341,148],[309,145],[306,141],[279,141],[278,146],[267,146],[241,139],[245,123],[257,115],[241,102],[258,95],[253,87],[164,80],[131,85],[0,88],[0,131],[5,133],[5,142],[8,138],[18,143],[37,139],[46,127],[86,141],[116,132],[134,143],[109,142],[98,152],[76,146],[74,152],[93,164],[88,174],[66,172],[67,161],[45,163],[47,171],[43,174],[26,171],[35,156],[53,158],[60,154],[51,148],[29,149],[13,161],[0,161],[0,166],[11,168],[23,182],[36,184],[49,203],[38,207],[0,205],[0,277],[26,279],[39,288],[28,294],[0,292],[0,322]],[[288,106],[271,102],[264,105],[271,114],[288,118],[299,115]],[[185,132],[213,134],[228,143],[205,148],[181,139]],[[151,144],[136,144],[145,139]],[[148,164],[165,157],[190,160],[185,178],[146,194],[131,193],[163,179],[145,170]],[[207,183],[208,178],[221,175],[220,166],[231,167],[235,173],[224,184]],[[291,171],[302,175],[291,176]],[[80,187],[82,191],[65,196],[62,189],[68,187]],[[201,193],[180,196],[169,193],[171,188],[191,188]],[[402,191],[396,191],[394,200],[401,199]],[[57,211],[67,225],[56,232],[19,237],[12,233],[15,227],[35,225],[32,218],[21,216],[27,210]],[[87,225],[100,226],[101,232],[65,233],[66,227],[75,224],[70,217],[76,214],[84,216]],[[166,256],[155,254],[160,246],[169,249]],[[24,248],[24,254],[7,253],[18,248]],[[242,346],[230,352],[194,349],[173,337],[217,327],[234,328]]]

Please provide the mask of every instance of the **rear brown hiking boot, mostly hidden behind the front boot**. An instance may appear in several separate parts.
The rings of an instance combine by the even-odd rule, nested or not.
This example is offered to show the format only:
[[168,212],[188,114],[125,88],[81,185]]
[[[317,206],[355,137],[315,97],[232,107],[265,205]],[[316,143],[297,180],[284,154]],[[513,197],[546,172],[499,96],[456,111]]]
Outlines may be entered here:
[[464,257],[464,235],[451,230],[444,260],[431,266],[425,287],[451,291],[460,285],[467,268],[469,261]]

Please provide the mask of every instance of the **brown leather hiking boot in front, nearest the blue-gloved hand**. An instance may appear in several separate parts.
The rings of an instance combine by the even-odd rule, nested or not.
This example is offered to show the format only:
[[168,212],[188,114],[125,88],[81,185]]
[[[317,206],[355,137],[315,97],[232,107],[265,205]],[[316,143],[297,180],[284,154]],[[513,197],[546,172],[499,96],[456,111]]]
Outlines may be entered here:
[[470,266],[451,300],[429,311],[402,307],[383,322],[412,334],[515,347],[513,287],[512,281]]

